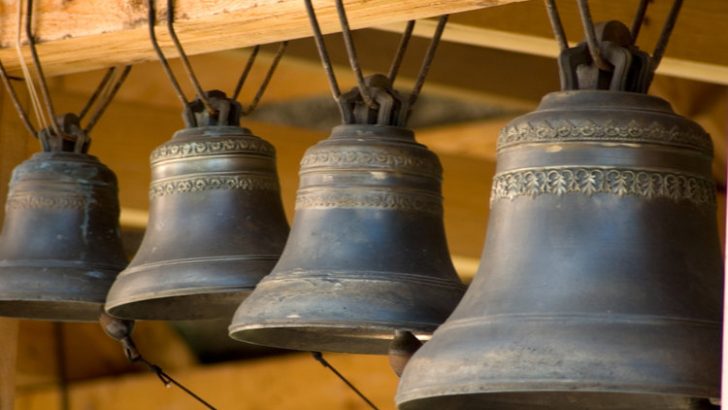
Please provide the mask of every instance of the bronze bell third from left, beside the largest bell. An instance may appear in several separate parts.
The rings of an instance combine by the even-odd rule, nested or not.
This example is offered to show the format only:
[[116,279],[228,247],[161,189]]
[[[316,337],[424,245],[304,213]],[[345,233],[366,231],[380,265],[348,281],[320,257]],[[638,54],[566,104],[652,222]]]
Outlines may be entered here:
[[230,336],[309,351],[387,352],[395,330],[427,337],[460,300],[447,249],[441,166],[383,76],[379,110],[343,96],[351,123],[301,161],[291,236],[273,272],[238,308]]

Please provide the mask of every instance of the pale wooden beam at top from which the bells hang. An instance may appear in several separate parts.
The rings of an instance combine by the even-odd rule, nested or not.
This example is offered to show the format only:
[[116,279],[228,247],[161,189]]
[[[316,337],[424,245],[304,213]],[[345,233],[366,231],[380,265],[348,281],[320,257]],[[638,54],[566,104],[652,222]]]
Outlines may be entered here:
[[[458,13],[523,0],[349,0],[347,13],[353,29],[397,21]],[[16,42],[19,0],[6,2],[0,25],[0,59],[14,73],[19,60]],[[157,1],[158,16],[167,14]],[[316,1],[325,33],[340,31],[333,0]],[[147,31],[147,8],[140,0],[36,1],[36,36],[48,75],[88,71],[116,64],[156,58]],[[178,0],[177,33],[188,54],[229,50],[256,44],[311,36],[302,0]],[[163,25],[162,47],[171,42]]]

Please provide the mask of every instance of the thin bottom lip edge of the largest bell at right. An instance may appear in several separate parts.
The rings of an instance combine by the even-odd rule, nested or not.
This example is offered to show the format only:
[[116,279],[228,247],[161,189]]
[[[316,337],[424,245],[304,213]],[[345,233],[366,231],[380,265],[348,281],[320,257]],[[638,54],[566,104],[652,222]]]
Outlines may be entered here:
[[[406,367],[405,367],[406,369]],[[402,375],[402,379],[406,377],[406,374]],[[437,388],[437,387],[422,387],[417,389],[408,389],[406,394],[403,394],[400,392],[400,390],[397,390],[397,394],[395,395],[395,403],[397,405],[397,408],[400,410],[408,410],[411,406],[415,406],[412,408],[421,408],[421,406],[426,406],[427,404],[422,403],[419,406],[417,406],[417,402],[419,401],[427,401],[431,399],[439,399],[439,398],[446,398],[446,397],[458,397],[458,396],[497,396],[500,394],[512,394],[517,395],[519,393],[528,393],[528,394],[538,394],[538,393],[569,393],[573,395],[578,394],[591,394],[591,395],[604,395],[604,396],[610,396],[610,395],[634,395],[634,396],[643,396],[643,397],[673,397],[675,399],[678,398],[685,398],[685,399],[698,399],[698,400],[713,400],[713,399],[719,399],[720,394],[719,392],[708,392],[705,391],[704,388],[701,388],[700,386],[679,386],[681,388],[686,389],[688,391],[688,394],[676,394],[674,393],[675,385],[620,385],[620,384],[613,384],[613,385],[605,385],[604,383],[597,383],[594,382],[593,386],[587,386],[582,388],[575,388],[571,386],[572,384],[579,384],[584,385],[582,381],[571,381],[571,382],[563,382],[560,385],[557,386],[557,383],[554,383],[553,381],[538,383],[524,383],[515,385],[512,383],[501,383],[501,384],[479,384],[479,383],[471,383],[471,384],[459,384],[455,387],[449,387],[447,389],[445,388]],[[483,389],[483,386],[490,386],[489,389]],[[401,382],[400,382],[401,386]],[[597,388],[598,387],[598,388]],[[640,390],[641,389],[641,390]],[[669,389],[671,389],[673,392],[669,392]],[[689,389],[689,390],[688,390]],[[694,394],[690,394],[690,391]],[[718,394],[716,394],[718,393]],[[494,397],[495,398],[495,397]],[[487,404],[487,402],[483,403]],[[686,409],[687,410],[687,409]]]

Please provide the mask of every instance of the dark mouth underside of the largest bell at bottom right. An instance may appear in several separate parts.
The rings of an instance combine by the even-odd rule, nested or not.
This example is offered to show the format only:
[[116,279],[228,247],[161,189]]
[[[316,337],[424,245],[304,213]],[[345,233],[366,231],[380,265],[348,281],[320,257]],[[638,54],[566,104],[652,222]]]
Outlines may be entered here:
[[399,410],[718,410],[706,398],[625,392],[549,391],[453,394],[398,403]]

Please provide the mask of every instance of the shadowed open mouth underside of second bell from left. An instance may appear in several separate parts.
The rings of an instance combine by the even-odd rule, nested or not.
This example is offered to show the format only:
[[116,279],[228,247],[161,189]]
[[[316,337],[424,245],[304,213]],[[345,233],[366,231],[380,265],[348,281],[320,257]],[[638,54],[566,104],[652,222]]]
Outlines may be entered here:
[[[186,289],[164,294],[143,294],[117,298],[107,303],[106,312],[122,319],[202,320],[230,319],[253,288],[205,290]],[[187,292],[187,293],[185,293]]]

